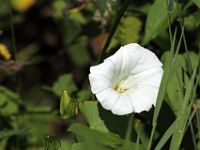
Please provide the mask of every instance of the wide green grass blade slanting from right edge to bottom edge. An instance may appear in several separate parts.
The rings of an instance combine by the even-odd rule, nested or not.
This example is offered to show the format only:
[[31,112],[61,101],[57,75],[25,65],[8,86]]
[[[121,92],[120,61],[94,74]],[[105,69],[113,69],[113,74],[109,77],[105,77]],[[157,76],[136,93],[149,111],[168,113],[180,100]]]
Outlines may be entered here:
[[176,119],[176,131],[172,136],[170,150],[178,150],[180,148],[180,145],[185,133],[186,125],[187,125],[187,120],[189,118],[188,114],[191,110],[191,108],[189,108],[189,102],[191,101],[193,89],[195,88],[194,81],[197,75],[198,67],[199,67],[199,58],[195,66],[195,69],[193,71],[192,78],[188,86],[186,87],[186,93],[183,100],[183,105],[181,107],[182,109]]

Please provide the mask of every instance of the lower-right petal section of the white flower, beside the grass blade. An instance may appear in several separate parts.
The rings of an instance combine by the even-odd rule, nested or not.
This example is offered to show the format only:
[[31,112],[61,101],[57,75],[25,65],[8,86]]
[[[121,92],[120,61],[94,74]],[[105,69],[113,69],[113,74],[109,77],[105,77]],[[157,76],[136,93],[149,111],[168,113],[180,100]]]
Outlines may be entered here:
[[152,100],[139,90],[133,90],[127,93],[131,99],[134,112],[149,111],[152,107]]

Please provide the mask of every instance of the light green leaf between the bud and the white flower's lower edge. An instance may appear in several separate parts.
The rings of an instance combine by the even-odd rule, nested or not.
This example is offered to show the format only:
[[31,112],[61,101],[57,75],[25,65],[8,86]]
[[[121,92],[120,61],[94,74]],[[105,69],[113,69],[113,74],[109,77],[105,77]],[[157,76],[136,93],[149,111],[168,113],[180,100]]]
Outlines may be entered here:
[[99,116],[97,102],[87,101],[80,103],[79,108],[91,129],[108,132],[106,125]]

